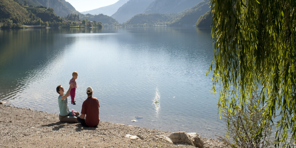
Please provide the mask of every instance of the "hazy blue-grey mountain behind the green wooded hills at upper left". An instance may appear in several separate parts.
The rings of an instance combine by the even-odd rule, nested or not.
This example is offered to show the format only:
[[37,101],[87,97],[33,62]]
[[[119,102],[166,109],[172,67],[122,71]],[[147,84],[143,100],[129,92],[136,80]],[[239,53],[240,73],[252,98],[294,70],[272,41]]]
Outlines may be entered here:
[[[25,0],[18,1],[24,3]],[[56,13],[58,16],[67,16],[71,13],[79,14],[79,12],[65,0],[27,0],[27,4],[54,8],[54,13]]]

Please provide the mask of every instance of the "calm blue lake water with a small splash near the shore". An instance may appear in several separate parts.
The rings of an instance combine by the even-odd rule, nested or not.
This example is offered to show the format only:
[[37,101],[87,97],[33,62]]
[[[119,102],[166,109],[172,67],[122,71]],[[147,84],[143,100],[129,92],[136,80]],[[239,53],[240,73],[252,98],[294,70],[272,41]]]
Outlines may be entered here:
[[70,110],[91,86],[102,121],[216,138],[225,123],[206,77],[213,54],[210,29],[0,30],[0,100],[58,114],[56,87],[68,90],[77,71]]

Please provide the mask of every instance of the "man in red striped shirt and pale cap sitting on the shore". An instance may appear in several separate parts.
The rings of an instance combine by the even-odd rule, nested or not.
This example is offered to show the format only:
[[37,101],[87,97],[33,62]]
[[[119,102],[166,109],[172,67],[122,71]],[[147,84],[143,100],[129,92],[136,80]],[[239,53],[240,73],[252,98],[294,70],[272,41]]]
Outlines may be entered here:
[[77,121],[85,127],[97,126],[100,122],[99,118],[99,101],[92,97],[92,88],[86,89],[87,99],[82,103],[81,115],[77,117]]

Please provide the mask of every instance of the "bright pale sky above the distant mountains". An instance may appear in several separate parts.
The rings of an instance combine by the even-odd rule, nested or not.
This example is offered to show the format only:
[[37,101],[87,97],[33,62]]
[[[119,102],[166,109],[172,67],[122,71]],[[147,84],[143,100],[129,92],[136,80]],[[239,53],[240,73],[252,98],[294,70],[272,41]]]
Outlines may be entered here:
[[78,12],[97,9],[114,4],[119,0],[65,0],[69,2]]

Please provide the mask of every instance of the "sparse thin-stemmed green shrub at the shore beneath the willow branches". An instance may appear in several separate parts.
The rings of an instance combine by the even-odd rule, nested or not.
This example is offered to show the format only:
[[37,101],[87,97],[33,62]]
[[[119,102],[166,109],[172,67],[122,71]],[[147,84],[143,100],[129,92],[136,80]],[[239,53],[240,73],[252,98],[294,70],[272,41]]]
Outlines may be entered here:
[[272,124],[268,122],[265,106],[259,98],[255,94],[243,106],[236,107],[235,112],[223,111],[228,132],[219,140],[240,148],[264,148],[273,144],[270,140]]

